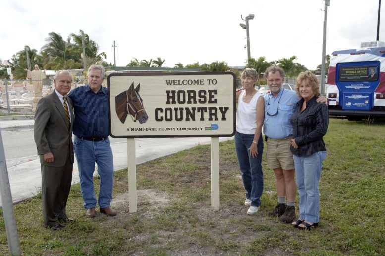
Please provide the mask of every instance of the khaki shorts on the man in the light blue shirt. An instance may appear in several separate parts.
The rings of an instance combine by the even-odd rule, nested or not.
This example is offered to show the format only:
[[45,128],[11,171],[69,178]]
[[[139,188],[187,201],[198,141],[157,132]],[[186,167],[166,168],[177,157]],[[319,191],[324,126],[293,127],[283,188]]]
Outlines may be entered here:
[[284,170],[295,169],[293,154],[290,151],[291,139],[293,139],[293,137],[283,139],[268,138],[266,142],[266,161],[268,162],[269,168],[282,168]]

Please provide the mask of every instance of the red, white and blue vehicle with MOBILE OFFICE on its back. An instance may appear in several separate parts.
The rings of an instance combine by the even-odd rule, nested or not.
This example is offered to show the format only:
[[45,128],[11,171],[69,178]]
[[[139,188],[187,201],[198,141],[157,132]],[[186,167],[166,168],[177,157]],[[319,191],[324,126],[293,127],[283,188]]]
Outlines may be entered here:
[[[385,117],[385,44],[335,51],[330,57],[326,96],[331,118]],[[366,43],[366,44],[368,44]]]

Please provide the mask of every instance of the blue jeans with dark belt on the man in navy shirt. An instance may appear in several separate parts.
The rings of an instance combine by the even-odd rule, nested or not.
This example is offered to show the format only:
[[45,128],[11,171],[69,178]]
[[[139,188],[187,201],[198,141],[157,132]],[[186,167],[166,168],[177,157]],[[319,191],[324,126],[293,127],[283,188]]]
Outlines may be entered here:
[[84,208],[96,206],[94,192],[95,163],[100,176],[98,204],[100,208],[110,206],[113,187],[113,160],[110,140],[88,141],[75,136],[73,149],[75,152],[80,177],[80,188]]

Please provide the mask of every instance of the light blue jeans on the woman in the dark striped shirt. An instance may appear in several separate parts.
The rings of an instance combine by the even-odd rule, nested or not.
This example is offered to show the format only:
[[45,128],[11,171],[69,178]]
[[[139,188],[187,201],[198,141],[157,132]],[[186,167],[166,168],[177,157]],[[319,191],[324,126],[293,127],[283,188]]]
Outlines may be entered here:
[[308,157],[294,155],[293,158],[299,194],[299,219],[318,223],[320,221],[318,183],[326,151],[319,151]]

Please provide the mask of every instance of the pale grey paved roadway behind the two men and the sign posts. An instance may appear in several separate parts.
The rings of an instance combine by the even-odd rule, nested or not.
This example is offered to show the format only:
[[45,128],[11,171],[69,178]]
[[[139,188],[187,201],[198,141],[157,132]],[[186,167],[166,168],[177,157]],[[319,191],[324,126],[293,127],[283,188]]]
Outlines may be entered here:
[[[0,128],[8,166],[9,183],[13,202],[35,196],[41,187],[40,162],[36,157],[36,146],[33,143],[33,120],[0,120]],[[4,139],[6,137],[6,139]],[[23,141],[21,138],[28,138]],[[232,138],[220,138],[220,141]],[[136,164],[141,164],[165,155],[207,144],[211,138],[139,138],[135,140]],[[0,145],[1,146],[1,145]],[[127,167],[127,140],[111,138],[114,169]],[[9,152],[8,152],[9,150]],[[12,152],[19,157],[14,157]],[[30,156],[30,157],[29,157]],[[27,157],[27,158],[26,158]],[[29,157],[29,158],[28,158]],[[79,182],[78,167],[75,161],[72,183]],[[1,206],[0,200],[0,206]]]

